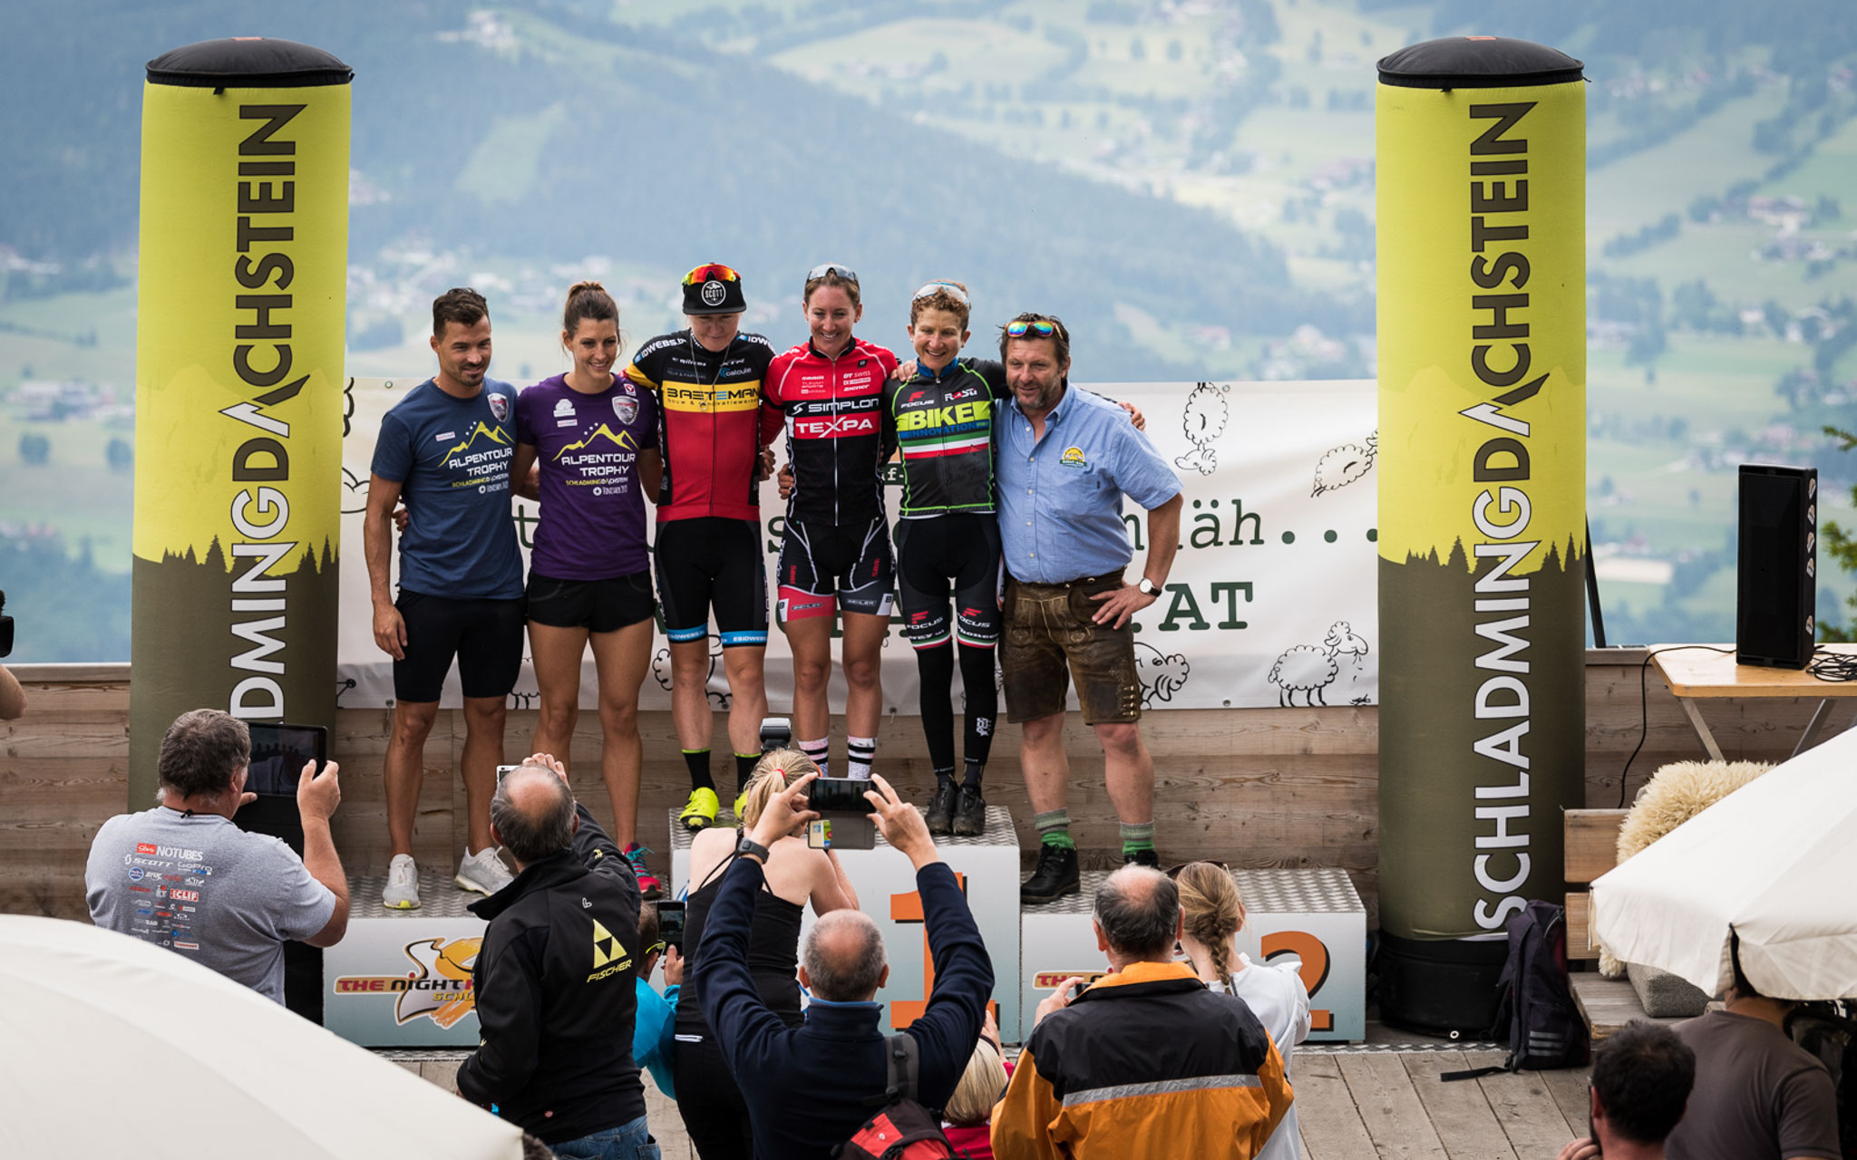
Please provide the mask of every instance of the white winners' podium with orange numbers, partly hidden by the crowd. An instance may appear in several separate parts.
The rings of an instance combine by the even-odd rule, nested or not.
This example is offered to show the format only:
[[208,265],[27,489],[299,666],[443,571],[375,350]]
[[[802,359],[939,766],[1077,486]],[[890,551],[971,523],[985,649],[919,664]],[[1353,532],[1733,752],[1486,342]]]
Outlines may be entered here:
[[[669,896],[689,885],[691,833],[667,813]],[[941,859],[960,878],[975,924],[993,960],[999,1036],[1023,1043],[1032,1012],[1071,974],[1107,969],[1090,928],[1090,906],[1107,870],[1083,876],[1083,891],[1045,906],[1019,906],[1019,844],[1010,813],[986,809],[980,837],[938,837]],[[890,952],[890,982],[877,999],[888,1025],[908,1026],[934,984],[921,900],[910,861],[882,837],[873,850],[839,850],[864,913],[877,919]],[[1367,909],[1339,869],[1233,870],[1248,924],[1239,948],[1253,963],[1302,963],[1309,987],[1311,1041],[1352,1041],[1367,1034]],[[323,952],[323,1025],[362,1047],[477,1045],[472,965],[485,921],[444,869],[420,874],[423,906],[381,906],[384,876],[349,880],[347,935]],[[808,908],[802,930],[810,928]],[[661,984],[661,980],[656,980]]]

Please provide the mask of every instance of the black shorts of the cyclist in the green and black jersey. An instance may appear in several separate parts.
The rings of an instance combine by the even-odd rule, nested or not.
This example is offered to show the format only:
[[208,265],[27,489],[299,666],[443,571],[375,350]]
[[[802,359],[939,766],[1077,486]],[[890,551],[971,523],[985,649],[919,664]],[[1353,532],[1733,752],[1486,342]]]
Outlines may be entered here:
[[[954,598],[949,616],[949,596]],[[949,512],[897,522],[897,603],[914,648],[999,644],[999,522]]]

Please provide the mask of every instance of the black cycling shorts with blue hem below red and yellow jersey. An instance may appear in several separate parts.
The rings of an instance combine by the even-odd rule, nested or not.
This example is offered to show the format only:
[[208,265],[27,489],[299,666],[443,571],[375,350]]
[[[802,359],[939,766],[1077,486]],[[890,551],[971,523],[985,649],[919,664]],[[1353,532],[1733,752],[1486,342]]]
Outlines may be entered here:
[[652,562],[672,644],[708,637],[715,609],[722,648],[767,648],[767,564],[758,522],[667,520],[657,525]]

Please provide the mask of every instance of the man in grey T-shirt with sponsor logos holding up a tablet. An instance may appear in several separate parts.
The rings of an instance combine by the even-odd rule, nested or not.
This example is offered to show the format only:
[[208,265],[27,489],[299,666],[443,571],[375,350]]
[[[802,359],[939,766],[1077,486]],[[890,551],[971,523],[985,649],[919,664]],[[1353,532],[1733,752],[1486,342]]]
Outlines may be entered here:
[[347,880],[329,833],[336,765],[297,781],[303,857],[232,824],[251,731],[217,709],[182,713],[162,739],[160,806],[104,822],[84,867],[91,921],[167,947],[284,1002],[284,943],[334,947],[347,932]]

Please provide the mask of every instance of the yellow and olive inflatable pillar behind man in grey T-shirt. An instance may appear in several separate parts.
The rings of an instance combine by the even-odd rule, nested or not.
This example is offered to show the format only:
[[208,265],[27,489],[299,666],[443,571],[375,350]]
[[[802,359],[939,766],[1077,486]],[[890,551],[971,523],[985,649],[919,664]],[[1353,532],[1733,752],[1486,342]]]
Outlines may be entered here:
[[188,709],[334,724],[353,76],[260,37],[149,61],[130,809]]

